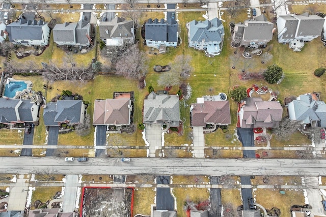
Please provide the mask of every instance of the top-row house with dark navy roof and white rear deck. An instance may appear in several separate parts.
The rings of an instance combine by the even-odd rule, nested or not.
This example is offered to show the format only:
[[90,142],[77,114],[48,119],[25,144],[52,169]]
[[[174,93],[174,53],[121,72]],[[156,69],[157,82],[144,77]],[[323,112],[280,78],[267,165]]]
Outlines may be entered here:
[[159,49],[165,53],[166,47],[176,47],[178,45],[178,22],[172,18],[148,19],[145,23],[145,41],[148,47]]

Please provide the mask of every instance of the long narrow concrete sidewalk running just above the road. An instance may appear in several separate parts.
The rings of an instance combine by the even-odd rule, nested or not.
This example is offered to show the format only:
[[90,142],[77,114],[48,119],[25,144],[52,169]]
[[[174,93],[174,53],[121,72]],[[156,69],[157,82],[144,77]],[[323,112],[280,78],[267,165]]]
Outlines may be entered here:
[[[105,145],[0,145],[0,148],[52,148],[52,149],[110,149],[112,146]],[[119,146],[124,149],[148,149],[148,146]],[[205,146],[205,147],[194,147],[194,146],[159,146],[160,149],[190,149],[190,150],[203,150],[205,148],[212,149],[223,149],[223,150],[307,150],[309,151],[326,151],[326,147],[312,147],[312,146],[294,146],[294,147],[225,147],[225,146]]]

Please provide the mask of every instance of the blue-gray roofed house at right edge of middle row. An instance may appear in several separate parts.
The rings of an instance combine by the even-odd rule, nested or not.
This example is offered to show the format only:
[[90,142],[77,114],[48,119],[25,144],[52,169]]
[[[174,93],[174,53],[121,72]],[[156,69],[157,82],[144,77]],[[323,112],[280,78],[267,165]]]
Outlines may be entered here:
[[326,127],[326,104],[314,94],[304,94],[288,103],[290,120],[311,127]]

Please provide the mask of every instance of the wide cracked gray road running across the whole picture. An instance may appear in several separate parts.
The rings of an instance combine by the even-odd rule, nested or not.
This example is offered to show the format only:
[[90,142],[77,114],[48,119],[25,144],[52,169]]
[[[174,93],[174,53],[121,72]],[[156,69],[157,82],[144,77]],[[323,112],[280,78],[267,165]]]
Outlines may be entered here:
[[65,162],[63,158],[0,158],[0,173],[26,174],[51,167],[58,174],[155,174],[155,175],[326,175],[326,160],[299,159],[158,159],[90,158],[87,162]]

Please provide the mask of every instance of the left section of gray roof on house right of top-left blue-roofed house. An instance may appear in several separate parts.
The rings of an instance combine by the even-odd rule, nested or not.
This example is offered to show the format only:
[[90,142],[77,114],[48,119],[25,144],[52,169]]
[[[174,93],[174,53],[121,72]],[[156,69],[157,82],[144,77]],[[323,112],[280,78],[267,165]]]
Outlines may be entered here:
[[55,42],[74,42],[74,30],[77,26],[76,22],[73,23],[58,23],[53,28],[53,41]]

